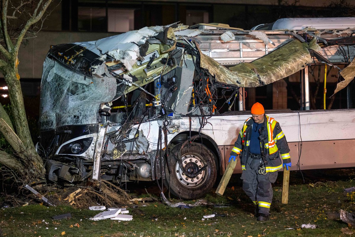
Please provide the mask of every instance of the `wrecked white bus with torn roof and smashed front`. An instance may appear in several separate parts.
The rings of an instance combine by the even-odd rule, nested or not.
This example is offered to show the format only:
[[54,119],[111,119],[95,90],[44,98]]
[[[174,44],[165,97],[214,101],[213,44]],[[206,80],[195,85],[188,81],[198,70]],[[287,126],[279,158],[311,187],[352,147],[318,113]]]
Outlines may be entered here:
[[266,111],[282,124],[291,169],[354,167],[355,110],[309,110],[308,84],[308,67],[317,64],[343,65],[335,92],[353,80],[354,27],[173,24],[53,45],[43,64],[36,145],[48,179],[161,180],[179,198],[201,197],[223,174],[250,117],[245,88],[295,73],[300,108]]

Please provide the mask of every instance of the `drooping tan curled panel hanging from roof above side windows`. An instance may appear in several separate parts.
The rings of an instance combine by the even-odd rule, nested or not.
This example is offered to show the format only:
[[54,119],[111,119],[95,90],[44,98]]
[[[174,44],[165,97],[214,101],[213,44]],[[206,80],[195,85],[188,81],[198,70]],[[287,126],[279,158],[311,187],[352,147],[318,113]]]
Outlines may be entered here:
[[[198,48],[198,46],[197,46]],[[270,84],[300,71],[311,63],[307,43],[295,39],[251,63],[240,63],[227,69],[203,54],[201,68],[207,69],[217,82],[238,87],[257,87]]]

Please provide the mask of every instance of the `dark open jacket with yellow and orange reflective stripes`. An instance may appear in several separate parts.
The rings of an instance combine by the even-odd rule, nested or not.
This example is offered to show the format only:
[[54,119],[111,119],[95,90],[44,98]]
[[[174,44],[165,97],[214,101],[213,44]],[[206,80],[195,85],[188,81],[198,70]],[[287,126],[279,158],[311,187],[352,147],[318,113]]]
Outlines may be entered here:
[[[240,156],[240,163],[243,170],[245,170],[245,164],[249,158],[252,124],[253,119],[251,117],[244,122],[238,139],[232,149],[233,152]],[[291,162],[290,149],[287,145],[285,134],[281,130],[280,124],[275,119],[264,115],[264,123],[259,132],[263,138],[260,142],[260,146],[264,145],[265,149],[262,149],[262,151],[266,151],[266,154],[264,154],[266,172],[278,171],[282,168],[282,163]],[[279,154],[281,154],[282,160]]]

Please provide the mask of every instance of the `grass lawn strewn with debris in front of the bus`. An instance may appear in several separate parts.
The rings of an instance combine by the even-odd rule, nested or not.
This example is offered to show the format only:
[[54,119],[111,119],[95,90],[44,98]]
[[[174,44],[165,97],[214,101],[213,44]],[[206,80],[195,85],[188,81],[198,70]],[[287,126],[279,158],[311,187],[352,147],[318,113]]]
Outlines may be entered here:
[[[198,206],[180,210],[158,202],[145,203],[147,206],[127,208],[133,215],[132,221],[91,221],[89,217],[99,211],[74,209],[70,205],[47,207],[33,204],[4,208],[0,209],[0,236],[348,236],[341,231],[348,225],[340,220],[327,219],[327,212],[354,211],[353,201],[343,192],[344,188],[355,186],[354,180],[291,183],[289,203],[282,204],[282,173],[280,177],[281,182],[273,186],[271,219],[266,222],[256,221],[253,204],[240,185],[233,184],[223,196],[217,196],[212,190],[204,197],[212,203],[231,204],[229,208]],[[69,220],[51,219],[51,216],[68,212],[72,215]],[[226,217],[202,220],[203,215],[213,212],[226,214]],[[318,227],[302,229],[301,225],[307,223]]]

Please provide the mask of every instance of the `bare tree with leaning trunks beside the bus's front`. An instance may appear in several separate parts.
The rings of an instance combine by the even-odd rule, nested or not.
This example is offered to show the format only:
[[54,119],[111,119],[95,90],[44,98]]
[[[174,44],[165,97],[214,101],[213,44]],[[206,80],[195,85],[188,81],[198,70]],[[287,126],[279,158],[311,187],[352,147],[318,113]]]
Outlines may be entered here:
[[[0,131],[11,145],[14,153],[12,156],[0,151],[0,163],[22,175],[24,174],[22,177],[24,179],[43,178],[45,169],[42,158],[35,151],[28,128],[17,68],[19,64],[17,54],[28,31],[31,31],[32,34],[36,33],[35,24],[41,20],[51,1],[2,0],[0,2],[0,71],[4,75],[8,87],[14,121],[12,124],[4,109],[0,109]],[[12,19],[17,21],[12,21]],[[39,26],[38,31],[41,24]],[[11,35],[16,37],[13,38]],[[28,177],[27,174],[31,177]]]

